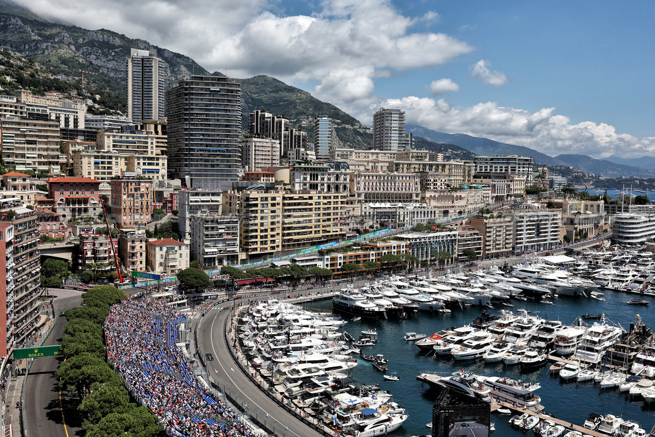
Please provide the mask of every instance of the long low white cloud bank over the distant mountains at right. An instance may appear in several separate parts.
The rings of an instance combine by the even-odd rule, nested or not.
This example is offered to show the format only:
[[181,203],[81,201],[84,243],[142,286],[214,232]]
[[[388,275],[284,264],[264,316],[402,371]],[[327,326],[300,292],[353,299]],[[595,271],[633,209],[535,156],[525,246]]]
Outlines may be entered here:
[[571,124],[571,119],[557,115],[553,107],[530,112],[498,107],[496,102],[456,107],[443,98],[405,97],[378,102],[369,110],[379,106],[405,110],[407,123],[523,145],[551,156],[577,154],[601,159],[655,155],[655,137],[618,134],[614,126],[605,123]]

